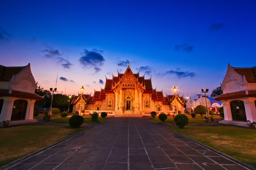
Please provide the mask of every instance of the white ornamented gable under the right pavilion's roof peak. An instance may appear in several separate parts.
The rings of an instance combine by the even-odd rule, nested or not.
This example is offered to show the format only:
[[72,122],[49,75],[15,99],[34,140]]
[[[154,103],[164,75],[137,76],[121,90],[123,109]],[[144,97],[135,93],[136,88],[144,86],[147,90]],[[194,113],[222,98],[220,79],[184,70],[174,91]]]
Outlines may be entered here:
[[240,74],[238,74],[234,70],[234,67],[232,67],[230,64],[228,64],[226,75],[225,75],[222,83],[220,83],[221,89],[224,91],[226,89],[227,82],[231,82],[231,81],[237,81],[240,86],[245,85],[247,83],[245,76],[241,76]]

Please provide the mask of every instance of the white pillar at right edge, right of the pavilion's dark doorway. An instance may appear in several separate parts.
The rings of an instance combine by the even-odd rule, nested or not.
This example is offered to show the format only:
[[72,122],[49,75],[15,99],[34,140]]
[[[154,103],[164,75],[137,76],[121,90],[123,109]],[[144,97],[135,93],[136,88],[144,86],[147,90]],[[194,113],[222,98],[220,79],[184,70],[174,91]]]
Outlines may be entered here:
[[246,113],[246,119],[251,122],[256,122],[256,107],[255,107],[255,98],[243,99],[244,108]]

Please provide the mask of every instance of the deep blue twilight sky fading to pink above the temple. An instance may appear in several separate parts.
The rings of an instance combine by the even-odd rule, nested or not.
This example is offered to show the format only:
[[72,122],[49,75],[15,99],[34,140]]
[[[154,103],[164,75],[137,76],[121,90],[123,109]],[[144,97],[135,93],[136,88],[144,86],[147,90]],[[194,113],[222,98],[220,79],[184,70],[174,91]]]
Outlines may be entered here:
[[[99,90],[105,74],[152,75],[157,90],[193,96],[219,86],[227,64],[256,64],[256,1],[1,0],[0,64],[31,63],[45,89]],[[122,62],[121,62],[122,63]],[[120,70],[121,69],[121,70]],[[65,81],[64,81],[65,80]],[[72,81],[70,81],[72,80]]]

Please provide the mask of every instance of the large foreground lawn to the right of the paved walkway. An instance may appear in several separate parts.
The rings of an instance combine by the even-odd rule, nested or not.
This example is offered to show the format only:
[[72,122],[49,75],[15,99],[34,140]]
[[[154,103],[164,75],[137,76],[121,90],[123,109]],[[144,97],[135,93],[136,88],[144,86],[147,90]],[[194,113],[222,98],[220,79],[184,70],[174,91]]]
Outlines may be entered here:
[[169,127],[256,168],[256,130],[241,127]]

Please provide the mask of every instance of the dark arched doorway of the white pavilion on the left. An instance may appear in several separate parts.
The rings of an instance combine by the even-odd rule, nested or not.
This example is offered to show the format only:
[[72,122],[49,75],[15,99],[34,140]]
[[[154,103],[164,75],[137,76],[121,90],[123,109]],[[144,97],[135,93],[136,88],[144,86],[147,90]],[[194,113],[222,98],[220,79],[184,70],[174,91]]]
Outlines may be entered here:
[[25,120],[27,105],[28,102],[26,100],[15,100],[11,120]]

